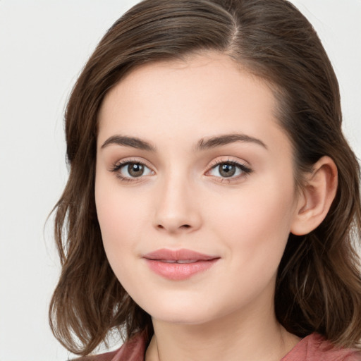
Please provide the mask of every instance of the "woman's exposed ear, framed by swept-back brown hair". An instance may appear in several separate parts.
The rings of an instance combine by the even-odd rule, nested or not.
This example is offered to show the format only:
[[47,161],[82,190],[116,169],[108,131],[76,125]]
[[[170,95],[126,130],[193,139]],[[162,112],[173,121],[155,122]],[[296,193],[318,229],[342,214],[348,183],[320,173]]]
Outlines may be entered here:
[[325,219],[337,190],[337,167],[330,157],[322,157],[307,173],[290,232],[305,235]]

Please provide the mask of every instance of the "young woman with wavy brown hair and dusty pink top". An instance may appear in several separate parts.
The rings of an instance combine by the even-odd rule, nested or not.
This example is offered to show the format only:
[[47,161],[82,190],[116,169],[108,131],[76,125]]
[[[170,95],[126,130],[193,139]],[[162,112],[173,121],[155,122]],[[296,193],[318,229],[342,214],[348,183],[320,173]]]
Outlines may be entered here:
[[[54,334],[82,360],[361,360],[360,175],[283,0],[146,0],[66,110]],[[120,332],[126,343],[90,355]]]

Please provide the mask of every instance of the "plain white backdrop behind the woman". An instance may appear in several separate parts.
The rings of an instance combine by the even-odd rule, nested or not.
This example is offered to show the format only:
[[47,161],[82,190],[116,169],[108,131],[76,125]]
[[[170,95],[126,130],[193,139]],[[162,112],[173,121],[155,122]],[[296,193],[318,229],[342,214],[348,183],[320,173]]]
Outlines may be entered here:
[[[66,183],[63,109],[108,27],[135,0],[0,0],[0,361],[65,361],[47,321],[59,275],[47,215]],[[341,85],[361,157],[361,0],[294,0]]]

